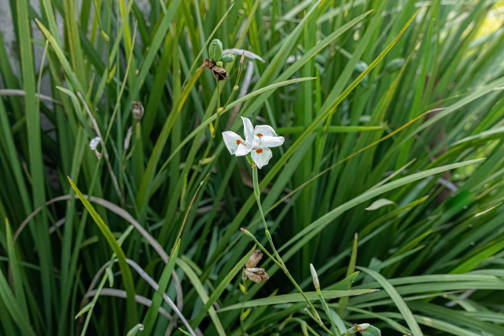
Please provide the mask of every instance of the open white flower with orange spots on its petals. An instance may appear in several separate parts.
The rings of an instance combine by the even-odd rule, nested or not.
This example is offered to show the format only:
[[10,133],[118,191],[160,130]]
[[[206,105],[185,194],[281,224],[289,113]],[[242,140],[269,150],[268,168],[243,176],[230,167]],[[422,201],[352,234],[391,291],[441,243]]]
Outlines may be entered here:
[[259,125],[254,128],[250,119],[241,117],[243,120],[243,133],[245,140],[230,130],[222,132],[224,143],[229,153],[236,156],[244,156],[250,153],[252,160],[258,168],[268,164],[273,154],[269,147],[278,147],[283,144],[284,138],[277,137],[275,130],[268,125]]

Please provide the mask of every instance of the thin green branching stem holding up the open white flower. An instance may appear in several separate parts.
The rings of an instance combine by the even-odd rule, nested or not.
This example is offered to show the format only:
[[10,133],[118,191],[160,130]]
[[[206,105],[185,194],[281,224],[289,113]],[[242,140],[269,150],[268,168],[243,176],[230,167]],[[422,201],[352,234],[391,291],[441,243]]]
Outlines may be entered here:
[[[326,326],[324,325],[324,323],[322,322],[322,319],[320,318],[319,314],[317,313],[317,310],[315,309],[315,307],[313,307],[313,304],[311,303],[311,301],[308,299],[306,294],[304,294],[303,290],[301,289],[301,287],[299,287],[299,285],[294,280],[294,278],[292,278],[292,276],[290,275],[289,270],[287,270],[285,263],[283,262],[282,258],[280,257],[280,254],[278,254],[278,251],[275,248],[275,245],[273,244],[273,240],[271,239],[270,231],[268,230],[268,225],[266,224],[266,219],[264,218],[263,208],[261,207],[261,193],[259,191],[259,181],[258,181],[258,176],[257,176],[257,166],[256,165],[252,166],[252,179],[254,182],[254,196],[256,197],[257,205],[259,207],[259,213],[261,214],[261,219],[263,220],[266,237],[268,238],[268,241],[270,242],[270,245],[271,245],[271,248],[273,249],[273,254],[275,255],[276,260],[266,251],[266,249],[264,249],[264,247],[261,244],[259,244],[259,242],[256,241],[256,243],[258,243],[258,245],[265,251],[265,253],[270,258],[272,258],[273,261],[275,261],[278,264],[278,266],[285,273],[287,278],[289,278],[289,280],[292,282],[294,287],[303,296],[303,298],[308,303],[308,305],[311,309],[311,312],[313,313],[314,320],[316,320],[321,327],[323,327],[324,329],[327,329]],[[327,329],[327,331],[329,331],[329,330]]]

